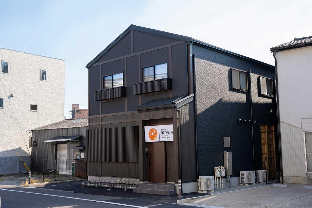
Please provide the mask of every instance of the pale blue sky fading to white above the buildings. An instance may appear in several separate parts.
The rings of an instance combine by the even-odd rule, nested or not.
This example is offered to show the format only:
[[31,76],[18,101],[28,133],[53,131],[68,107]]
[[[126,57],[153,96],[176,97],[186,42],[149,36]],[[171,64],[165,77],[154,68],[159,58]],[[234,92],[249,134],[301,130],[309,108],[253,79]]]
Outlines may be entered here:
[[65,116],[87,108],[89,63],[130,24],[274,64],[269,48],[312,36],[311,1],[0,1],[0,47],[64,59]]

